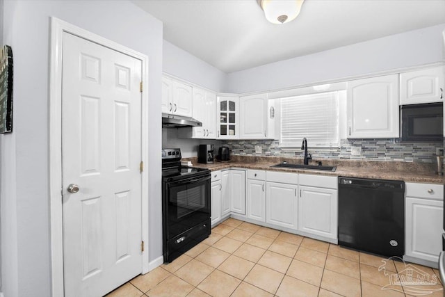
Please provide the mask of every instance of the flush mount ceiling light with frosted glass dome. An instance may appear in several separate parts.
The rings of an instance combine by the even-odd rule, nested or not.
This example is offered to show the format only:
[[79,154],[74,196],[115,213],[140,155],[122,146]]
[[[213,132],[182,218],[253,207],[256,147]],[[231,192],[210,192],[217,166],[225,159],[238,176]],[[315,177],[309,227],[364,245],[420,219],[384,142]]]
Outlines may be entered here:
[[305,0],[257,0],[266,19],[272,24],[291,22],[300,13]]

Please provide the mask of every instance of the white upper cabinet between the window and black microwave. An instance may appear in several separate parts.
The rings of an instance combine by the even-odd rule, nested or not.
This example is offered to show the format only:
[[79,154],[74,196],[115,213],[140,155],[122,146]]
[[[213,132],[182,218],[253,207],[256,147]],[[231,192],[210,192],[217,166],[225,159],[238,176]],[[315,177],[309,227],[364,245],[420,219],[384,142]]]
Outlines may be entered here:
[[348,138],[397,138],[398,74],[348,82]]

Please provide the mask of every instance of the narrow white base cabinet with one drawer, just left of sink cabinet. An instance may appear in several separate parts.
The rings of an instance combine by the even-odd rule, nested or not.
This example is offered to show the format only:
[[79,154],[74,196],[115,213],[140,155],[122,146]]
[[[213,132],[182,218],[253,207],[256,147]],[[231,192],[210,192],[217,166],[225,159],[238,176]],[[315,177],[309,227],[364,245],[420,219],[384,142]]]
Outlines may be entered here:
[[248,170],[246,212],[252,220],[266,222],[266,172]]

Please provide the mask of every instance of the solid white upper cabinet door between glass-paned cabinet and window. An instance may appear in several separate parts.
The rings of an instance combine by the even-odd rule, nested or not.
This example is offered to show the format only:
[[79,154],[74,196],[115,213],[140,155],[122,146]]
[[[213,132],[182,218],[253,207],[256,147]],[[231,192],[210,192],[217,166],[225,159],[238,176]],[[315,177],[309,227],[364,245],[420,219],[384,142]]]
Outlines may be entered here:
[[266,138],[267,94],[240,97],[240,138]]

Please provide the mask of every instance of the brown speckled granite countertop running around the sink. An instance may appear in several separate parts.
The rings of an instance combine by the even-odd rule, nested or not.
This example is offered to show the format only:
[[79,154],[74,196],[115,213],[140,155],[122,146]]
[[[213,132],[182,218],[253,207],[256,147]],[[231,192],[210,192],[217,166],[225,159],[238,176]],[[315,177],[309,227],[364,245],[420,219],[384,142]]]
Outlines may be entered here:
[[268,156],[231,156],[229,162],[215,161],[213,164],[197,163],[196,158],[184,158],[192,161],[193,167],[208,168],[212,171],[228,168],[248,168],[256,170],[271,170],[280,172],[306,173],[311,175],[362,177],[371,179],[393,179],[405,182],[421,182],[427,184],[442,184],[443,176],[435,174],[430,163],[407,163],[398,161],[351,161],[321,159],[323,166],[337,166],[337,170],[304,170],[293,168],[273,168],[270,166],[287,161],[302,163],[301,158],[280,158]]

